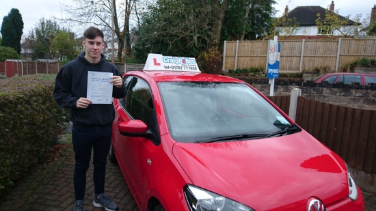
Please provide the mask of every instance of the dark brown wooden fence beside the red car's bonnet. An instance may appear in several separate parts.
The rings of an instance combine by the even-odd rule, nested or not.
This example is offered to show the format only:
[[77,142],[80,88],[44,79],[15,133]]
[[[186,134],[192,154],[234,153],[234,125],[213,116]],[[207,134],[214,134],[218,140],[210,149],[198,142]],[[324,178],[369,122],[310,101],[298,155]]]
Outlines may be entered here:
[[[288,114],[290,96],[267,97]],[[299,96],[296,123],[336,152],[350,167],[376,174],[376,111]]]

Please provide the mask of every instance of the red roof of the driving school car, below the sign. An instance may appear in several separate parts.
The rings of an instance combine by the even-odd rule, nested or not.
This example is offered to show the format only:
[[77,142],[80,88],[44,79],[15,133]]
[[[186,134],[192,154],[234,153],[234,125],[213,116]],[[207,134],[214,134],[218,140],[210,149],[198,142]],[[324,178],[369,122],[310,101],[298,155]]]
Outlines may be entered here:
[[202,82],[222,82],[222,83],[244,83],[239,79],[234,79],[228,76],[221,76],[217,74],[205,74],[198,72],[183,72],[183,71],[131,71],[126,72],[126,75],[136,75],[146,78],[151,78],[155,82],[180,82],[180,81],[202,81]]

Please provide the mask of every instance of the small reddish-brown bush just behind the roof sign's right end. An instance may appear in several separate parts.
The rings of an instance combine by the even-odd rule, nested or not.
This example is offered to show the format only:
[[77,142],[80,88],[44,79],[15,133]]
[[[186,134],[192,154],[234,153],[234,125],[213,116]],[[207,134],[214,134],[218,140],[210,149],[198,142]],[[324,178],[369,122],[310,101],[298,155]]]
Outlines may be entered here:
[[198,67],[205,73],[221,74],[222,59],[222,52],[219,51],[219,48],[209,48],[206,51],[202,51],[198,56]]

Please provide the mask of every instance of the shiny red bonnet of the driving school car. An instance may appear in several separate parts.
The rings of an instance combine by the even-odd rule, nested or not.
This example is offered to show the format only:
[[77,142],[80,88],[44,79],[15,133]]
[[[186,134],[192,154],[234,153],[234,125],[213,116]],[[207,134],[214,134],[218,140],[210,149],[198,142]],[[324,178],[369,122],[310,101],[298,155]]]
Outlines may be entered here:
[[310,197],[329,204],[349,194],[343,160],[304,130],[249,141],[176,143],[173,154],[194,185],[255,210],[306,210]]

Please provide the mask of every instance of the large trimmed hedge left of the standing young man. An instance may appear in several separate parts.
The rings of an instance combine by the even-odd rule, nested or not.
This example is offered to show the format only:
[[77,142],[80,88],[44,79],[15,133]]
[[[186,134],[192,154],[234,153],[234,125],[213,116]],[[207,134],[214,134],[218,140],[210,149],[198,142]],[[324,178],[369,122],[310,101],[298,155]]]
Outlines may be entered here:
[[69,121],[52,92],[55,74],[0,80],[0,189],[43,158]]

